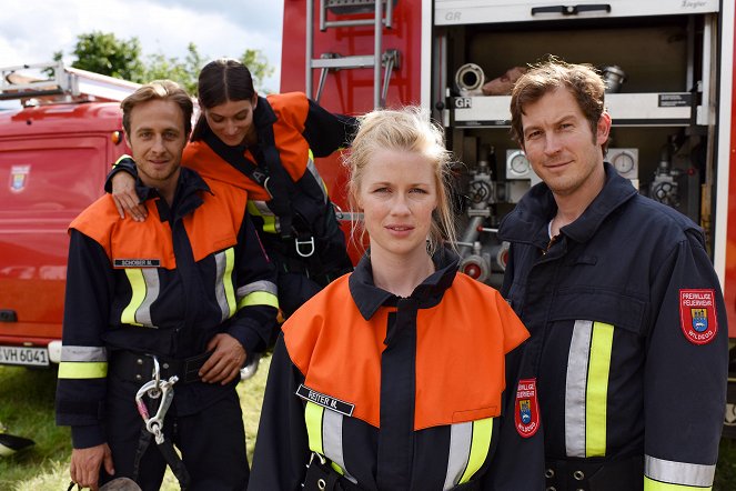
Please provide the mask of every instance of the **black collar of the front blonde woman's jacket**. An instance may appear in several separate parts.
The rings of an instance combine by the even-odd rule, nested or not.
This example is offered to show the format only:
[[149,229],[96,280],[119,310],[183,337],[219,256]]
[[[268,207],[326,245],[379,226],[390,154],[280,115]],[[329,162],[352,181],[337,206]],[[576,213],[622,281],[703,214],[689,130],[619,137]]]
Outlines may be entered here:
[[[436,305],[445,290],[452,285],[460,258],[448,249],[438,250],[433,257],[435,271],[414,289],[411,299],[419,301],[421,309]],[[400,297],[374,284],[370,252],[365,253],[347,280],[350,293],[363,319],[370,320],[381,305],[396,305]]]

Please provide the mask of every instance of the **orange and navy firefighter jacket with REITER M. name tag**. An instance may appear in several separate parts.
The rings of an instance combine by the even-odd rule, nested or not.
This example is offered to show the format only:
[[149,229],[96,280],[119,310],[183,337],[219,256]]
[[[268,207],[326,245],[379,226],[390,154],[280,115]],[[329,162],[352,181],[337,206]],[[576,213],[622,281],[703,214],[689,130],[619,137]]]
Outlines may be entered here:
[[283,324],[250,490],[301,489],[311,452],[344,489],[491,489],[504,355],[528,333],[497,291],[456,273],[455,254],[434,260],[397,298],[366,255]]

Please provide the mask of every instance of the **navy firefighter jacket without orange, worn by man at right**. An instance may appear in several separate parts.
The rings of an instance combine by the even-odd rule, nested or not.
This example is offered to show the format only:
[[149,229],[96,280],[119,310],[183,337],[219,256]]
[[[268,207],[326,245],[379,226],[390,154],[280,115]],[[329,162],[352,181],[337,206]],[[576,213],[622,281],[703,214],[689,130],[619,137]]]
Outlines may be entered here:
[[727,380],[718,279],[695,223],[605,172],[554,240],[544,183],[500,230],[502,292],[532,334],[520,352],[538,389],[547,485],[709,489]]

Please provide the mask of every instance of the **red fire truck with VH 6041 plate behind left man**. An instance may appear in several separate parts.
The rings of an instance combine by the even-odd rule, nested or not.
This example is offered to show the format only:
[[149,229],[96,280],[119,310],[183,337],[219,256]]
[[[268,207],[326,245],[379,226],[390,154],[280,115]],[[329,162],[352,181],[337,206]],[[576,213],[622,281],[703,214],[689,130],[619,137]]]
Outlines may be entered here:
[[0,68],[0,364],[59,362],[67,227],[103,193],[137,83],[62,63]]

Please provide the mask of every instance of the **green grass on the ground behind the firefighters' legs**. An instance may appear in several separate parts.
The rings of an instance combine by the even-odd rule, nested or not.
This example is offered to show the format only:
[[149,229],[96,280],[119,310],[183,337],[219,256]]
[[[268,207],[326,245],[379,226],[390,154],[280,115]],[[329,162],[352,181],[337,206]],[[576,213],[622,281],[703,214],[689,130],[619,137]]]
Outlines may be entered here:
[[[261,398],[270,359],[261,360],[258,373],[241,382],[240,393],[248,440],[249,460],[258,432]],[[8,433],[33,439],[36,445],[0,458],[0,490],[58,491],[69,484],[69,430],[53,422],[56,370],[27,370],[0,365],[0,422]],[[178,490],[168,472],[163,490]],[[723,439],[714,491],[736,490],[736,440]]]

